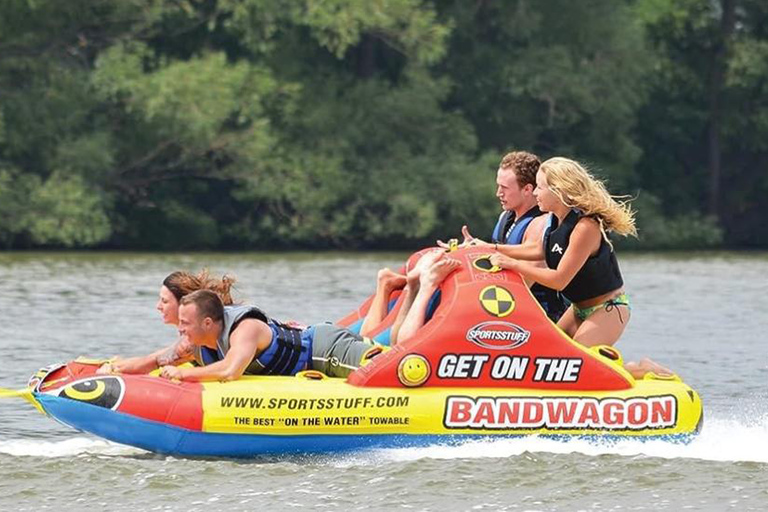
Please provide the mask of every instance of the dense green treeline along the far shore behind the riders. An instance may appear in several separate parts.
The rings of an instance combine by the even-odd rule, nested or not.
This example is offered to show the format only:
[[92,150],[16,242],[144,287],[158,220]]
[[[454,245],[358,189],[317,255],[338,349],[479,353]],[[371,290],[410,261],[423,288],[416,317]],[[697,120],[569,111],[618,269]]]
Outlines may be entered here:
[[766,247],[764,0],[0,0],[0,248],[406,248],[507,150]]

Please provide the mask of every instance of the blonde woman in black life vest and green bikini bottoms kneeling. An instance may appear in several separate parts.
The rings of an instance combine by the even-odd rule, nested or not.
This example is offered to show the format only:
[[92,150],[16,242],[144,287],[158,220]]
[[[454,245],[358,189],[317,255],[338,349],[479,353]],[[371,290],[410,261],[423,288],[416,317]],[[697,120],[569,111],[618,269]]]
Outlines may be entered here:
[[[557,324],[573,339],[588,347],[613,345],[627,326],[631,308],[607,232],[637,236],[633,211],[567,158],[541,164],[534,195],[539,208],[551,214],[543,243],[496,245],[491,261],[561,291],[571,306]],[[529,263],[540,259],[547,268]],[[627,363],[626,368],[635,376],[671,373],[648,359]]]

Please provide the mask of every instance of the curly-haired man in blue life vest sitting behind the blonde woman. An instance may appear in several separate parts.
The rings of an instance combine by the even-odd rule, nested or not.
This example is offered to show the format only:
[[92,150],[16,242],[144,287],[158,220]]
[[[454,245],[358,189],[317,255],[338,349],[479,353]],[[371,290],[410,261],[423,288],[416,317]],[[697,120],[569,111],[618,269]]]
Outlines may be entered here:
[[[543,238],[547,216],[539,210],[533,195],[540,165],[539,157],[527,151],[513,151],[501,159],[496,171],[496,197],[502,212],[493,229],[492,244],[517,245]],[[462,228],[462,233],[464,244],[482,243],[469,233],[466,226]],[[542,268],[547,266],[544,260],[536,264]],[[534,283],[531,293],[553,322],[557,322],[568,308],[563,297],[551,288]]]

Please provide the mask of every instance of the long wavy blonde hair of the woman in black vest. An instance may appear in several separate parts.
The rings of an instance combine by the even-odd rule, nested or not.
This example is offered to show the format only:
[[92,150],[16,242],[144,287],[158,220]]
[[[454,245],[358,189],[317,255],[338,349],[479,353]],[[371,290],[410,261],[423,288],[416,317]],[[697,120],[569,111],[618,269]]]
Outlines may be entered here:
[[628,196],[611,196],[603,182],[578,162],[562,157],[550,158],[541,164],[540,171],[545,174],[549,189],[564,205],[597,218],[603,236],[606,231],[637,236],[635,212],[628,201],[621,201]]

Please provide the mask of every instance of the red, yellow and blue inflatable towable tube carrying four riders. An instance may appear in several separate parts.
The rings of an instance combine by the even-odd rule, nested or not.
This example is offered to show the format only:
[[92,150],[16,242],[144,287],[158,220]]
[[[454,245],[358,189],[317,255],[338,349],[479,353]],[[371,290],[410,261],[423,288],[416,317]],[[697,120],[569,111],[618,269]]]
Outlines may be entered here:
[[[178,383],[95,375],[101,361],[77,360],[35,374],[32,397],[74,428],[186,456],[530,434],[685,440],[698,432],[701,400],[679,378],[633,379],[615,349],[588,349],[560,331],[519,275],[490,265],[487,250],[451,256],[462,267],[443,283],[432,319],[346,380],[307,371]],[[369,303],[340,323],[354,327]]]

